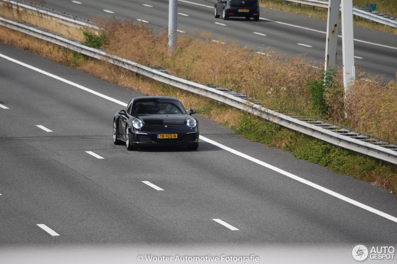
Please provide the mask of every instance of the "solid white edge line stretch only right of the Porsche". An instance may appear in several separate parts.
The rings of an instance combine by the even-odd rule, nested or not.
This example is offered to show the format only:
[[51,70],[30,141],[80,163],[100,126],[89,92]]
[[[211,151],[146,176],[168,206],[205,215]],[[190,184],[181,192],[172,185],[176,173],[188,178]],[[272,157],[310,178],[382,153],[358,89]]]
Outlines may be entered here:
[[285,176],[287,176],[287,177],[289,177],[289,178],[291,178],[291,179],[297,180],[298,182],[301,182],[301,183],[303,183],[303,184],[306,184],[306,185],[308,185],[308,186],[311,186],[311,187],[313,187],[313,188],[316,188],[316,189],[318,189],[318,190],[320,190],[320,191],[323,191],[324,193],[328,193],[328,194],[330,194],[330,195],[332,195],[332,196],[334,196],[334,197],[336,197],[336,198],[339,198],[339,199],[341,199],[341,200],[343,200],[343,201],[345,201],[345,202],[347,202],[347,203],[351,203],[352,205],[355,205],[355,206],[360,207],[360,208],[362,208],[362,209],[364,209],[364,210],[373,212],[374,214],[378,214],[379,216],[382,216],[382,217],[384,217],[384,218],[387,218],[387,219],[389,219],[389,220],[391,220],[391,221],[397,223],[397,218],[396,218],[396,217],[391,216],[391,215],[389,215],[389,214],[386,214],[386,213],[384,213],[384,212],[382,212],[382,211],[380,211],[380,210],[377,210],[377,209],[374,209],[374,208],[372,208],[372,207],[369,207],[368,205],[364,205],[364,204],[362,204],[362,203],[359,203],[359,202],[357,202],[357,201],[355,201],[355,200],[353,200],[353,199],[350,199],[350,198],[348,198],[348,197],[346,197],[346,196],[343,196],[343,195],[341,195],[341,194],[339,194],[339,193],[336,193],[336,192],[334,192],[334,191],[331,191],[331,190],[329,190],[329,189],[326,189],[326,188],[324,188],[324,187],[322,187],[322,186],[320,186],[320,185],[317,185],[317,184],[314,184],[314,183],[312,183],[312,182],[309,182],[308,180],[305,180],[305,179],[303,179],[303,178],[300,178],[300,177],[298,177],[298,176],[296,176],[296,175],[294,175],[294,174],[291,174],[291,173],[289,173],[289,172],[286,172],[285,170],[281,170],[281,169],[279,169],[279,168],[277,168],[277,167],[275,167],[275,166],[272,166],[272,165],[270,165],[270,164],[268,164],[268,163],[265,163],[265,162],[263,162],[263,161],[260,161],[260,160],[258,160],[258,159],[255,159],[255,158],[253,158],[253,157],[250,157],[250,156],[248,156],[248,155],[246,155],[246,154],[244,154],[244,153],[241,153],[241,152],[239,152],[239,151],[237,151],[237,150],[234,150],[234,149],[231,149],[231,148],[229,148],[229,147],[226,147],[225,145],[222,145],[222,144],[220,144],[220,143],[218,143],[218,142],[215,142],[215,141],[213,141],[213,140],[210,140],[210,139],[208,139],[208,138],[205,138],[205,137],[203,137],[203,136],[201,136],[201,135],[200,135],[200,140],[203,140],[203,141],[205,141],[205,142],[211,143],[212,145],[216,145],[217,147],[220,147],[221,149],[224,149],[224,150],[229,151],[229,152],[231,152],[231,153],[233,153],[233,154],[235,154],[235,155],[238,155],[238,156],[240,156],[240,157],[243,157],[244,159],[248,159],[249,161],[252,161],[252,162],[254,162],[254,163],[257,163],[257,164],[259,164],[259,165],[262,165],[262,166],[264,166],[264,167],[266,167],[266,168],[270,168],[271,170],[274,170],[274,171],[276,171],[276,172],[279,172],[279,173],[281,173],[281,174],[283,174],[283,175],[285,175]]

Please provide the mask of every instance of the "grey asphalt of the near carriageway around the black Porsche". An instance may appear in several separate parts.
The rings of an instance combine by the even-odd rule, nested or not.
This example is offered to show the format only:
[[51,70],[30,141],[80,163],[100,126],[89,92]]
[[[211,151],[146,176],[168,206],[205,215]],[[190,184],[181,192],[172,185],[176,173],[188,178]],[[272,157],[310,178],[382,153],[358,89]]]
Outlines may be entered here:
[[[0,51],[125,103],[141,95],[4,44]],[[4,58],[0,83],[0,104],[9,108],[0,108],[3,247],[158,244],[175,253],[183,246],[222,245],[224,250],[279,243],[310,250],[331,244],[349,251],[357,243],[395,244],[396,222],[210,143],[202,141],[198,151],[131,152],[113,145],[112,117],[122,108],[117,103]],[[395,196],[385,189],[298,161],[291,153],[197,118],[206,138],[397,216]]]

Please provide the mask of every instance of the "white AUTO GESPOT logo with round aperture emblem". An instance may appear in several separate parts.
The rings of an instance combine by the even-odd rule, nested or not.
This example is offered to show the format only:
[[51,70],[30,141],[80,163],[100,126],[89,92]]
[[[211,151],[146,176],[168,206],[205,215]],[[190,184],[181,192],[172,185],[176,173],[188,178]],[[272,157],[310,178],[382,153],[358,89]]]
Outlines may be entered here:
[[394,259],[395,248],[392,246],[368,247],[364,244],[357,244],[351,250],[351,255],[358,262],[370,259]]

